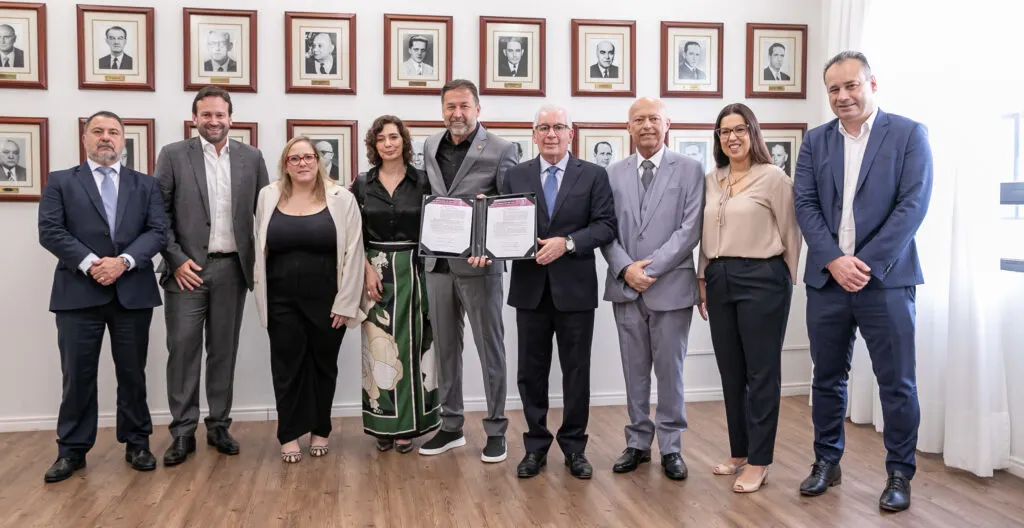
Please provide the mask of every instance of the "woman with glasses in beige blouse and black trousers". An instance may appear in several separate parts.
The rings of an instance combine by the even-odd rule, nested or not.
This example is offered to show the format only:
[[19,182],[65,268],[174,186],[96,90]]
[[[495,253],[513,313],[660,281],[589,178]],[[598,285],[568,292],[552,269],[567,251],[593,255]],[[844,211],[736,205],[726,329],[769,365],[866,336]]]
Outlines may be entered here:
[[715,123],[716,170],[708,173],[697,279],[722,375],[731,458],[716,475],[757,491],[778,429],[782,339],[800,260],[793,181],[772,165],[758,120],[729,104]]

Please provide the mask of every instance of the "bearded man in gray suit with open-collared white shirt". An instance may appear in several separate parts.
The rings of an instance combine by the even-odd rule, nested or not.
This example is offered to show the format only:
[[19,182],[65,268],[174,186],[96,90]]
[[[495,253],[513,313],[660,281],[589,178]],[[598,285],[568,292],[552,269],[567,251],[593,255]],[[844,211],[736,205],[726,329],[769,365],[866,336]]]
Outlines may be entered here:
[[268,183],[256,148],[228,139],[231,97],[216,86],[193,100],[199,137],[165,146],[155,176],[170,221],[160,283],[167,322],[167,400],[171,446],[164,465],[185,461],[196,450],[199,380],[206,333],[206,441],[238,454],[231,425],[234,357],[246,291],[253,289],[253,212]]

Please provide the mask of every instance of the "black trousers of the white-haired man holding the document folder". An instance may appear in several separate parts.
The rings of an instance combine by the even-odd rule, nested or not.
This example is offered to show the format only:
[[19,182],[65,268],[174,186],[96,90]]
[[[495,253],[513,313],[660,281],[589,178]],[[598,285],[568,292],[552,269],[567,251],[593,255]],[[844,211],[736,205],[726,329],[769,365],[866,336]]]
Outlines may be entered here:
[[594,310],[562,312],[551,301],[545,284],[536,310],[516,310],[519,341],[517,381],[526,417],[522,439],[526,452],[547,452],[552,435],[548,430],[548,377],[551,373],[552,338],[558,341],[562,369],[564,408],[558,428],[558,446],[565,454],[587,448],[590,419],[590,351],[594,341]]

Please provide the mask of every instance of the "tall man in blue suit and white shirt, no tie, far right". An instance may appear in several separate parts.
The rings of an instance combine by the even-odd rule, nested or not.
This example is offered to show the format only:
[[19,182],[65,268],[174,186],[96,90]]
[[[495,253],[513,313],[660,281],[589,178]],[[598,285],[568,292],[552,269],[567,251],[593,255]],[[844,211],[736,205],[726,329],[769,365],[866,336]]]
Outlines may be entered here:
[[824,71],[839,119],[807,133],[797,161],[797,219],[807,239],[807,329],[814,361],[815,463],[800,491],[842,480],[846,387],[855,331],[867,344],[885,420],[889,480],[883,510],[910,505],[921,407],[914,371],[914,295],[924,282],[914,233],[932,193],[925,127],[878,109],[863,54],[844,51]]

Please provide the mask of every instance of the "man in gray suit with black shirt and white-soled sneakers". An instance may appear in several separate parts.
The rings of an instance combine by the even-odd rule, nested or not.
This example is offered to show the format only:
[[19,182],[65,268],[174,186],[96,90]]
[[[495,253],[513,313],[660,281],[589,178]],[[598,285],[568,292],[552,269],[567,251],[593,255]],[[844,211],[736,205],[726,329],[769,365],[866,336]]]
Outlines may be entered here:
[[[441,196],[498,194],[505,171],[515,166],[515,145],[487,132],[478,122],[476,85],[464,79],[441,88],[441,115],[446,131],[427,138],[424,164],[430,189]],[[507,456],[505,430],[505,328],[502,324],[504,267],[474,267],[458,259],[427,259],[427,297],[437,354],[441,430],[420,447],[420,454],[440,454],[466,445],[462,433],[463,318],[469,314],[473,342],[483,368],[487,443],[480,459],[500,463]]]

